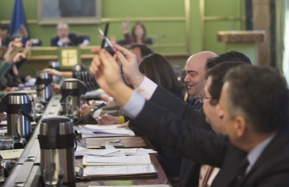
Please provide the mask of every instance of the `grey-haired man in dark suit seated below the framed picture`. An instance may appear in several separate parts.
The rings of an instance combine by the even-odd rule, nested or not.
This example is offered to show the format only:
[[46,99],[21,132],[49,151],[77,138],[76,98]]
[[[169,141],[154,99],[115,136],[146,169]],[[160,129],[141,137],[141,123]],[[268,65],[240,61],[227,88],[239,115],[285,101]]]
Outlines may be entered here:
[[67,47],[67,46],[87,46],[89,45],[89,36],[77,36],[69,33],[69,27],[66,23],[58,23],[57,37],[52,38],[50,46]]

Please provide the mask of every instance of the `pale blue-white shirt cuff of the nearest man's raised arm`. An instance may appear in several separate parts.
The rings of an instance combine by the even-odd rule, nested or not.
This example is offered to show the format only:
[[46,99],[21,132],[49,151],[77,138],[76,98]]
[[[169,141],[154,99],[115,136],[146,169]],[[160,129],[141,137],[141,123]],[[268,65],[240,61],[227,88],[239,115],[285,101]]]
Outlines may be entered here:
[[129,101],[123,106],[123,110],[129,114],[131,118],[136,118],[142,111],[145,104],[145,99],[140,96],[137,92],[133,92]]

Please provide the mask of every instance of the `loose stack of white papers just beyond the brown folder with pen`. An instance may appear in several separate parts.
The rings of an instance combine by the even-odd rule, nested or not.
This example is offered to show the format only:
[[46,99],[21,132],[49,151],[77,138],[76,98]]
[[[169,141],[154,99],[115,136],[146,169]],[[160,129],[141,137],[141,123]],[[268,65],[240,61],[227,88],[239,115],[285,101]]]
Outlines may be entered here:
[[135,136],[134,131],[128,128],[117,128],[118,125],[84,125],[78,133],[82,138],[88,137],[114,137]]

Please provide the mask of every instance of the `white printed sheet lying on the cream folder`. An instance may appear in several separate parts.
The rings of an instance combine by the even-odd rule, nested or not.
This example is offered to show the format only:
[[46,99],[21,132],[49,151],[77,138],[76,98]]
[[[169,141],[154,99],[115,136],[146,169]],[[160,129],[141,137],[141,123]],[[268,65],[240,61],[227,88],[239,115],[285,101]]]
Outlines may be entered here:
[[117,156],[117,157],[87,157],[88,163],[134,163],[148,164],[151,163],[149,154],[140,156]]

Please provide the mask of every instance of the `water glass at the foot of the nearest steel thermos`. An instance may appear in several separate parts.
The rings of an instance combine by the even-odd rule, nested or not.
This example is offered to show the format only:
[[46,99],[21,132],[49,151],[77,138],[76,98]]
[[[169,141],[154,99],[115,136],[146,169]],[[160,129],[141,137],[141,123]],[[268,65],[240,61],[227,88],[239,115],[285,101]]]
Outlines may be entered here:
[[45,187],[56,186],[58,182],[59,173],[62,173],[63,175],[64,170],[61,168],[56,169],[56,170],[52,170],[51,168],[43,169],[43,178],[44,178]]

